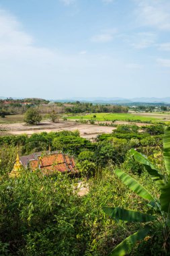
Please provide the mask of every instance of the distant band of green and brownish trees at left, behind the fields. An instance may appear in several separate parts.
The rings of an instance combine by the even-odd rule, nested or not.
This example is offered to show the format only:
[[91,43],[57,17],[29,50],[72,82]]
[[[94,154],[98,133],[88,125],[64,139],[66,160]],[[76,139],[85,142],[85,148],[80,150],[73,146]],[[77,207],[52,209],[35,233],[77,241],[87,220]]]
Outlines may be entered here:
[[[28,101],[26,101],[28,100]],[[7,103],[7,104],[6,104]],[[41,114],[49,114],[54,111],[57,114],[62,113],[127,113],[128,107],[110,104],[95,104],[92,103],[53,103],[48,104],[48,101],[41,99],[24,99],[0,101],[0,116],[14,114],[24,114],[30,107],[35,107]]]

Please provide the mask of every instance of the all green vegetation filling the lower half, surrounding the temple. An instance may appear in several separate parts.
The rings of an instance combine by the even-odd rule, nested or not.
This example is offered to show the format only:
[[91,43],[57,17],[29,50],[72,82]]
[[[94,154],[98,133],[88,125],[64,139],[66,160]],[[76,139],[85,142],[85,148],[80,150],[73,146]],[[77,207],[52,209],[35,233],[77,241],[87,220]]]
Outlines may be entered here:
[[[167,129],[167,166],[168,133]],[[98,256],[108,255],[114,248],[111,255],[131,250],[132,255],[161,255],[163,245],[168,252],[169,177],[160,148],[141,146],[141,140],[149,136],[122,131],[101,135],[95,143],[81,138],[78,131],[0,137],[0,254]],[[162,135],[152,136],[162,139]],[[79,178],[60,173],[44,177],[28,170],[21,170],[15,179],[8,177],[18,151],[30,154],[49,146],[75,155]],[[128,151],[133,147],[149,160],[136,150]],[[122,167],[136,176],[130,177]],[[80,181],[89,189],[83,197],[77,189]],[[153,186],[153,181],[165,185]],[[110,218],[102,205],[108,205],[104,210]]]

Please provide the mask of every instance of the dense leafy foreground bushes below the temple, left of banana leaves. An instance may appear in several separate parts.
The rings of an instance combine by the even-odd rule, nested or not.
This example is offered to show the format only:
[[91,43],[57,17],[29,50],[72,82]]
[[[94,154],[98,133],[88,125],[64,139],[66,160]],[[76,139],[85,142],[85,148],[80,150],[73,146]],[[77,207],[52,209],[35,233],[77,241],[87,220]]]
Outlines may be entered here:
[[138,207],[137,198],[134,203],[112,173],[105,170],[101,181],[89,181],[84,197],[77,196],[76,182],[60,173],[43,177],[24,170],[21,177],[0,180],[0,245],[5,255],[107,255],[113,238],[118,243],[127,230],[134,231],[135,226],[106,219],[101,210],[103,203],[113,202],[133,201]]

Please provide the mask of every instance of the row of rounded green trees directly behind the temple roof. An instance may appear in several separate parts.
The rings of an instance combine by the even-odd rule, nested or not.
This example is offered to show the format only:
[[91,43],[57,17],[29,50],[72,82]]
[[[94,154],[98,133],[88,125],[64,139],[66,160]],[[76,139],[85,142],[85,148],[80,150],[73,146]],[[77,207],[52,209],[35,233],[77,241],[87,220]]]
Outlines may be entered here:
[[9,146],[22,146],[23,155],[48,150],[49,147],[51,150],[63,150],[72,154],[79,154],[83,148],[95,148],[95,144],[79,136],[79,131],[33,133],[30,137],[28,135],[0,137],[0,144],[4,143]]

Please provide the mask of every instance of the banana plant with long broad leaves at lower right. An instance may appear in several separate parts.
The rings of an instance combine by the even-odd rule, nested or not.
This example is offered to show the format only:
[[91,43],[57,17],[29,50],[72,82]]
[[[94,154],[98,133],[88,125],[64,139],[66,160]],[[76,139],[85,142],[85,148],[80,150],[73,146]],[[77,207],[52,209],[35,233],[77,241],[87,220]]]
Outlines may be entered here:
[[117,245],[110,253],[110,256],[123,256],[130,253],[135,243],[141,241],[146,237],[148,232],[151,231],[151,226],[148,225],[148,222],[157,220],[160,216],[163,218],[164,226],[170,228],[170,127],[167,127],[163,137],[163,156],[166,167],[165,175],[161,174],[145,156],[138,153],[136,150],[131,149],[130,154],[131,156],[134,156],[134,159],[137,162],[144,165],[144,168],[148,174],[150,174],[151,179],[157,184],[161,195],[159,198],[155,198],[129,174],[126,174],[126,172],[123,172],[120,169],[115,170],[115,174],[126,186],[128,186],[129,189],[147,201],[148,207],[152,210],[148,212],[154,212],[154,214],[144,214],[142,212],[126,210],[120,207],[103,207],[105,214],[115,220],[146,223],[143,228],[134,234],[131,234],[128,238],[122,241],[122,243]]

